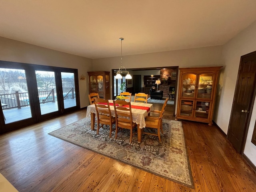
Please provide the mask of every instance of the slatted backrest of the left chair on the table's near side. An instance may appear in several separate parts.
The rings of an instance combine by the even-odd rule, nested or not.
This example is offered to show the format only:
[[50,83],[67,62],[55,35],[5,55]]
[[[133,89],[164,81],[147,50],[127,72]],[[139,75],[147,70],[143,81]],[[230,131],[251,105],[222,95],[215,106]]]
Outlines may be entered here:
[[110,110],[110,105],[108,100],[105,100],[102,98],[95,98],[94,105],[96,108],[96,114],[97,114],[98,120],[101,121],[102,119],[108,119],[108,120],[111,119],[111,110]]

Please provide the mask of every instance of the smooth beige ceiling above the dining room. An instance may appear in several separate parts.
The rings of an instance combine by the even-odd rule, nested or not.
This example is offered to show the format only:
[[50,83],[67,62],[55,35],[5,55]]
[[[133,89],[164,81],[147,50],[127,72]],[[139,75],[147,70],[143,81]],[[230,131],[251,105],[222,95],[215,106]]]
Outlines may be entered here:
[[0,36],[87,58],[222,45],[256,0],[0,0]]

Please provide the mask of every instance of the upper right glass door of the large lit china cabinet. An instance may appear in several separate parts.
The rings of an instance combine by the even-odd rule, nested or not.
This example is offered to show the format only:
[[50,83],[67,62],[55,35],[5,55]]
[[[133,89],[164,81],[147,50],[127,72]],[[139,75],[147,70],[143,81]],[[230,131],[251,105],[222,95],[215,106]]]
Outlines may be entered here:
[[200,74],[198,82],[197,98],[212,98],[212,85],[214,84],[214,74]]

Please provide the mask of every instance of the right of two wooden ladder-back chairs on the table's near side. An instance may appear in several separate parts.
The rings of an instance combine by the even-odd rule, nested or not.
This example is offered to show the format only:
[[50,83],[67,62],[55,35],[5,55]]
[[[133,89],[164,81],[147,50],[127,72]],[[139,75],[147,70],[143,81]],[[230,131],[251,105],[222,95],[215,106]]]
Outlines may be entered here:
[[[114,109],[116,116],[116,137],[118,131],[121,129],[130,129],[130,143],[132,142],[132,136],[134,136],[137,132],[133,132],[133,129],[137,126],[136,123],[132,122],[132,108],[131,103],[126,102],[124,100],[115,100]],[[125,107],[122,107],[125,105]],[[118,129],[119,128],[119,129]]]

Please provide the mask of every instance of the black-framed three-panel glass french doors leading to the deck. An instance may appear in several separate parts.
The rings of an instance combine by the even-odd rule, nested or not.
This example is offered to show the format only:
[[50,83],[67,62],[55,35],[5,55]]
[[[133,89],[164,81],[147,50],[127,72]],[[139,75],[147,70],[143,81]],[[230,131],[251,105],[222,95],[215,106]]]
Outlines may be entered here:
[[80,108],[76,69],[0,61],[0,133]]

